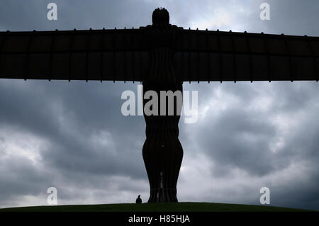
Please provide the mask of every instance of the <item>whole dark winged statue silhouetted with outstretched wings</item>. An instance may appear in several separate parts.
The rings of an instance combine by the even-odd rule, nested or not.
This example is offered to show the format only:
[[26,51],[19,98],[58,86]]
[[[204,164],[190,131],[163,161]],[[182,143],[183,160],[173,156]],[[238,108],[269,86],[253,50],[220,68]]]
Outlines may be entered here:
[[152,108],[160,114],[144,112],[148,202],[177,202],[181,108],[174,101],[169,114],[161,91],[182,92],[186,81],[319,81],[318,40],[184,29],[170,24],[161,8],[152,13],[152,25],[138,29],[0,32],[0,79],[140,81],[143,96],[155,91]]

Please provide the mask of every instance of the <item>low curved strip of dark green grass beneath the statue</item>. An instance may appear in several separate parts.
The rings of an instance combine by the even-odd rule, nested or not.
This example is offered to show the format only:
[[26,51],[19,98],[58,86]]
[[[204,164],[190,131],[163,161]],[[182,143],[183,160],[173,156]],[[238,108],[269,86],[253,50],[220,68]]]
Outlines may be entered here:
[[224,203],[123,203],[101,205],[50,205],[3,208],[0,212],[296,212],[311,211],[270,205],[240,205]]

